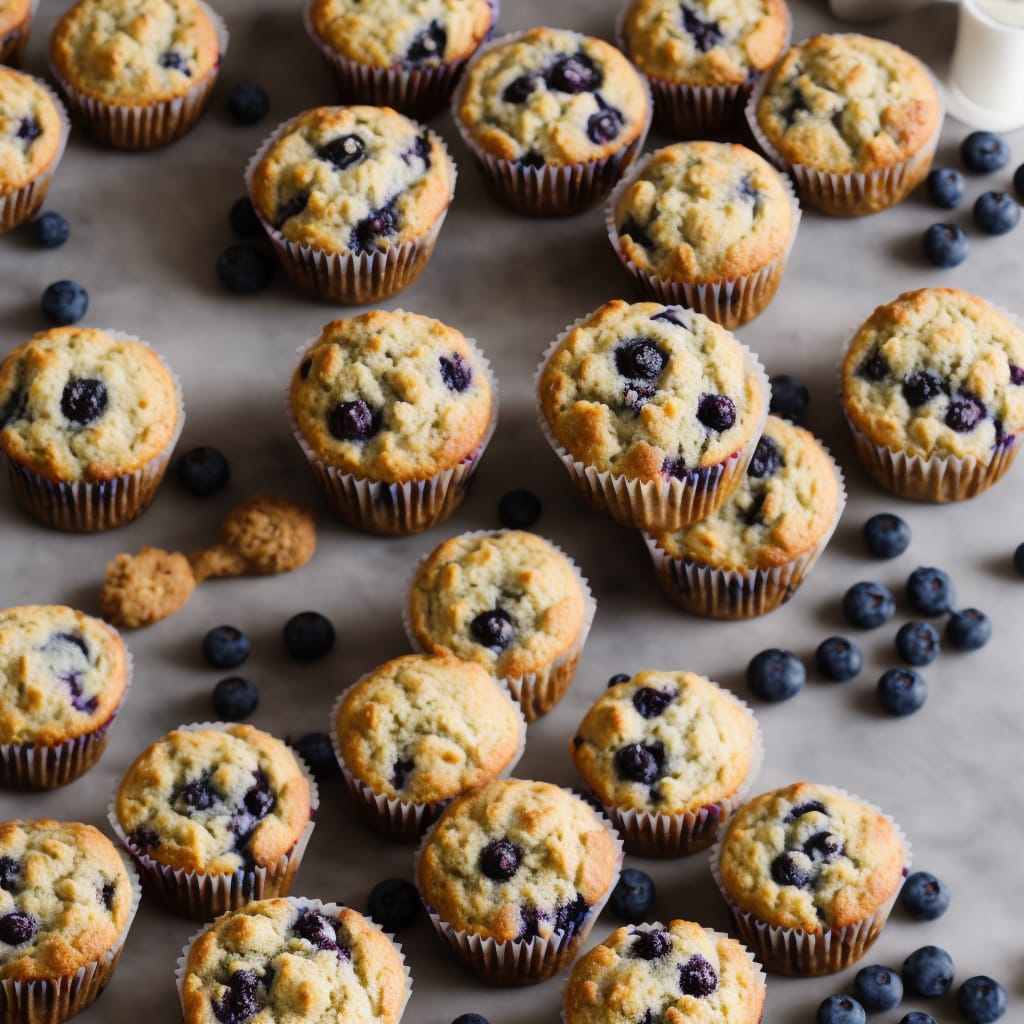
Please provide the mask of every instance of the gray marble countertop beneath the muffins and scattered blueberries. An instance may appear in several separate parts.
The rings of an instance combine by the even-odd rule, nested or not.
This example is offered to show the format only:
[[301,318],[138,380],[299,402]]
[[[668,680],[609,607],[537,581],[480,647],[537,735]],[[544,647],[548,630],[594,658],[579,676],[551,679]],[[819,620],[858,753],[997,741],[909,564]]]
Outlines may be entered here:
[[[43,71],[44,43],[63,6],[43,0],[28,70]],[[901,593],[914,566],[936,564],[952,574],[958,605],[990,614],[992,643],[970,655],[944,653],[924,670],[931,688],[924,709],[907,719],[890,719],[876,706],[873,683],[896,663],[896,625],[910,617],[901,601],[893,624],[856,637],[865,653],[856,681],[827,684],[812,669],[795,699],[756,707],[767,752],[757,785],[763,790],[800,778],[828,782],[892,814],[912,841],[914,866],[949,883],[952,905],[931,924],[913,923],[897,909],[869,962],[898,967],[919,946],[942,945],[952,954],[959,980],[974,974],[999,979],[1011,997],[1006,1019],[1024,1021],[1024,944],[1017,921],[1024,686],[1020,638],[1014,639],[1024,611],[1024,582],[1012,564],[1014,548],[1024,541],[1024,466],[958,506],[898,501],[860,469],[835,399],[844,338],[876,305],[901,291],[956,285],[1024,312],[1024,228],[984,238],[970,226],[970,203],[942,215],[920,195],[857,220],[805,214],[777,297],[738,334],[770,373],[798,373],[809,383],[809,426],[842,463],[850,502],[831,545],[792,602],[748,623],[706,622],[662,598],[640,538],[577,499],[536,425],[530,381],[550,340],[602,302],[632,297],[607,244],[601,211],[549,221],[506,212],[484,193],[445,115],[435,127],[460,164],[455,203],[422,278],[386,305],[437,316],[477,338],[501,382],[501,418],[476,485],[450,522],[419,537],[358,536],[334,521],[323,505],[283,412],[297,346],[346,311],[317,304],[284,281],[262,295],[236,298],[214,272],[218,252],[232,242],[227,211],[243,191],[247,158],[278,121],[334,101],[332,84],[303,33],[299,0],[220,0],[217,6],[231,43],[199,127],[166,151],[148,154],[105,150],[76,130],[48,203],[71,221],[71,241],[43,251],[24,234],[0,239],[0,355],[47,326],[38,311],[46,284],[81,281],[91,296],[86,324],[147,339],[180,374],[187,422],[179,451],[221,447],[231,461],[230,484],[202,500],[168,479],[141,519],[96,537],[48,531],[26,519],[6,486],[0,487],[0,602],[67,602],[97,613],[104,567],[116,553],[146,544],[198,547],[214,538],[228,508],[259,492],[290,494],[312,505],[319,513],[318,550],[312,562],[289,575],[204,584],[173,618],[128,634],[135,683],[100,763],[55,793],[0,794],[0,817],[79,818],[109,831],[106,803],[136,754],[180,723],[211,717],[210,692],[221,673],[204,665],[199,645],[203,634],[221,623],[252,638],[243,671],[261,692],[253,723],[282,736],[326,728],[337,693],[408,650],[399,608],[414,562],[458,531],[497,526],[498,498],[512,487],[529,486],[541,496],[544,515],[536,528],[579,561],[598,599],[572,688],[552,714],[530,726],[519,768],[523,776],[563,784],[574,780],[567,738],[612,673],[692,669],[749,696],[743,672],[757,651],[785,646],[811,666],[820,640],[845,631],[839,602],[849,585],[876,579]],[[542,0],[509,0],[501,27],[553,23],[608,38],[616,6],[611,0],[560,0],[554,7]],[[823,2],[798,0],[792,7],[794,38],[838,27]],[[941,75],[954,25],[955,11],[932,5],[858,28],[906,46]],[[251,128],[233,124],[225,111],[228,88],[246,80],[261,83],[272,100],[270,118]],[[947,122],[940,164],[956,164],[966,131]],[[985,188],[1009,187],[1013,167],[1024,160],[1024,132],[1009,138],[1011,167],[991,183],[969,178],[972,201]],[[647,147],[665,141],[654,137]],[[932,268],[920,256],[922,232],[942,219],[964,224],[972,239],[970,259],[951,271]],[[860,528],[869,515],[885,510],[909,521],[913,542],[900,558],[878,562],[863,547]],[[290,615],[307,608],[333,620],[338,643],[318,663],[291,663],[281,630]],[[375,838],[355,817],[340,782],[323,788],[318,823],[294,893],[365,909],[377,881],[412,877],[412,851]],[[727,927],[703,855],[668,862],[628,858],[628,863],[656,880],[657,918]],[[591,941],[617,924],[606,910]],[[81,1015],[82,1024],[179,1020],[174,964],[196,927],[143,900],[121,966],[100,1000]],[[447,959],[425,920],[401,939],[415,982],[404,1017],[409,1024],[445,1024],[469,1011],[484,1014],[492,1024],[558,1020],[560,980],[525,990],[492,989]],[[813,1021],[825,995],[850,989],[853,973],[814,980],[771,977],[765,1021]],[[959,1019],[951,995],[931,1001],[935,1006],[907,1000],[884,1022],[895,1024],[915,1007],[941,1021]]]

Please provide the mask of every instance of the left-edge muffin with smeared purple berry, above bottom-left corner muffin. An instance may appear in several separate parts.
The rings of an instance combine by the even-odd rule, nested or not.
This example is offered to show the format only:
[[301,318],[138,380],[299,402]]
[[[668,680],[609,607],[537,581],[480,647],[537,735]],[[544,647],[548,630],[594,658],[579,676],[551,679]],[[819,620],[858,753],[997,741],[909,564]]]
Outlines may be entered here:
[[129,683],[105,623],[58,604],[0,610],[0,785],[52,788],[88,771]]

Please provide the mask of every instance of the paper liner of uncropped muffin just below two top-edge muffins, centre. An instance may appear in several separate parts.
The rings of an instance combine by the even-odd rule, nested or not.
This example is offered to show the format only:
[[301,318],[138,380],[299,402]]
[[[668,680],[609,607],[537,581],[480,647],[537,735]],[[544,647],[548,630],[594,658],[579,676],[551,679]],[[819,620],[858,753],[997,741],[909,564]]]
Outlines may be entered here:
[[[599,160],[552,167],[527,167],[518,160],[505,160],[484,150],[472,136],[459,117],[470,70],[477,60],[496,46],[504,46],[522,38],[525,32],[512,32],[481,46],[472,56],[452,97],[452,113],[459,134],[476,158],[484,183],[500,203],[530,216],[560,217],[580,213],[600,202],[622,177],[643,150],[650,130],[653,102],[647,80],[637,72],[647,96],[647,113],[643,126],[633,141]],[[585,38],[575,33],[579,39]]]

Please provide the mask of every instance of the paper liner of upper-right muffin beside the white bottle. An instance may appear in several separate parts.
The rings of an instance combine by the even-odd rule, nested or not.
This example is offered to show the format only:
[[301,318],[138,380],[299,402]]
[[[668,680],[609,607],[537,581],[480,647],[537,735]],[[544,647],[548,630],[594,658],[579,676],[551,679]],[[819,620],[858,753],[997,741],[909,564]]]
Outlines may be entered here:
[[[935,77],[927,68],[925,70],[935,84]],[[935,147],[942,133],[944,111],[938,85],[935,85],[935,94],[939,104],[939,117],[935,131],[916,153],[890,167],[865,172],[840,173],[819,171],[806,164],[792,163],[768,140],[758,124],[757,114],[758,103],[767,88],[769,77],[768,72],[761,76],[746,101],[746,123],[765,156],[796,182],[802,203],[836,217],[862,217],[895,206],[924,181],[932,166],[932,157],[935,156]]]

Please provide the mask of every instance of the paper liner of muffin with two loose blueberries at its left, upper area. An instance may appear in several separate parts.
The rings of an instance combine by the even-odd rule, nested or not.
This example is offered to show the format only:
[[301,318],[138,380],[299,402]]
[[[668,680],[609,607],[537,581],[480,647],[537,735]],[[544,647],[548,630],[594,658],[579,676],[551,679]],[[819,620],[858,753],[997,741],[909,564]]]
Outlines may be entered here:
[[245,170],[246,190],[253,201],[256,216],[259,217],[263,230],[273,246],[274,255],[282,269],[300,291],[341,305],[369,305],[397,295],[398,292],[409,288],[423,272],[434,251],[434,244],[447,216],[452,200],[455,198],[459,169],[447,152],[444,139],[431,129],[425,129],[431,140],[440,146],[452,172],[452,193],[449,196],[447,206],[428,231],[418,239],[399,242],[387,249],[374,252],[329,252],[327,249],[315,249],[312,246],[290,242],[267,220],[253,194],[256,168],[270,146],[296,120],[297,118],[291,118],[278,125],[260,143]]

